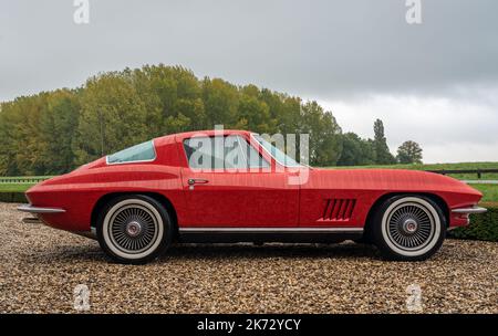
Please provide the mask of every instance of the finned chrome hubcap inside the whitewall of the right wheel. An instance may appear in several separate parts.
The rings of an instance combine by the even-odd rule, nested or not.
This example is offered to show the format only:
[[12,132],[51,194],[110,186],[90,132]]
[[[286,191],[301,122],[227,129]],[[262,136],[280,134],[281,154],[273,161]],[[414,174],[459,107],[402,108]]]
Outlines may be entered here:
[[415,202],[397,206],[387,219],[388,239],[402,250],[423,249],[430,242],[434,231],[435,221],[430,211]]

